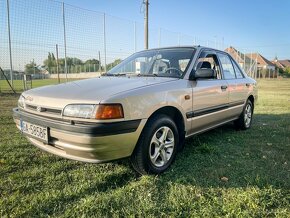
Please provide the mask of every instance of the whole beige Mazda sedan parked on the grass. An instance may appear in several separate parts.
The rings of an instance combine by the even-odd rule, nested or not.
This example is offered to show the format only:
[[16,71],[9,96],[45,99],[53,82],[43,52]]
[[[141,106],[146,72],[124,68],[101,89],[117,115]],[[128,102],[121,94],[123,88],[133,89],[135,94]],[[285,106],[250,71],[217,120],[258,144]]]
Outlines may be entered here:
[[22,93],[13,117],[40,149],[90,163],[131,157],[165,171],[186,138],[234,121],[251,126],[256,81],[227,53],[205,47],[141,51],[100,78]]

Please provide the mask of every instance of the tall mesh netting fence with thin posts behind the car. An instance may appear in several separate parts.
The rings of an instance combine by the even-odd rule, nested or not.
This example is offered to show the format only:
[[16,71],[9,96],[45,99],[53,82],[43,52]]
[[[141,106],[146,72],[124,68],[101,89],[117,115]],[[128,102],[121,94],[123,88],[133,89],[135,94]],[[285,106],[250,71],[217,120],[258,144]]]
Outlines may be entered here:
[[[0,10],[0,67],[19,91],[24,74],[47,81],[35,81],[34,87],[95,77],[143,49],[143,23],[52,0],[0,0]],[[149,29],[150,48],[198,44],[226,48],[223,40]],[[255,60],[239,63],[256,75]],[[0,91],[5,90],[10,88],[0,73]]]

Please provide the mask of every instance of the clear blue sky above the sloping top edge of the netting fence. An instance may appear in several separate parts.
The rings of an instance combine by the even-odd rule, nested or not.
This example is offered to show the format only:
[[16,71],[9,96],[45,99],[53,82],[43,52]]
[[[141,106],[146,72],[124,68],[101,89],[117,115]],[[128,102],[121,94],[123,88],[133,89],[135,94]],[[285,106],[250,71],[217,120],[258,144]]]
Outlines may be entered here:
[[[142,0],[65,0],[65,3],[143,22]],[[290,59],[289,0],[150,0],[150,27],[234,45],[267,58]]]

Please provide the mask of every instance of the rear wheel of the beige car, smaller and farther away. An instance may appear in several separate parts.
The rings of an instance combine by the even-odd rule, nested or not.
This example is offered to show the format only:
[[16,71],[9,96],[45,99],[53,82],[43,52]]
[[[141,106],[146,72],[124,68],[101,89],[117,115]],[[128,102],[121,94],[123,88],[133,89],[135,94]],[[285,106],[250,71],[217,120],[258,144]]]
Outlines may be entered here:
[[253,111],[253,103],[248,99],[239,119],[234,122],[237,129],[246,130],[251,127],[253,120]]

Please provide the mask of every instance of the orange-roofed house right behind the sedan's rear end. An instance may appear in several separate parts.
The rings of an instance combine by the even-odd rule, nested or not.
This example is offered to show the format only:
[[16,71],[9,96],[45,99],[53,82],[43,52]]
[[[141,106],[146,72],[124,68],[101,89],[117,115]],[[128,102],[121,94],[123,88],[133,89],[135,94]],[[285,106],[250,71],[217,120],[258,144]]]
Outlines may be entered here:
[[238,51],[234,47],[231,46],[226,48],[225,52],[229,53],[246,73],[250,73],[250,71],[255,69],[255,60]]

